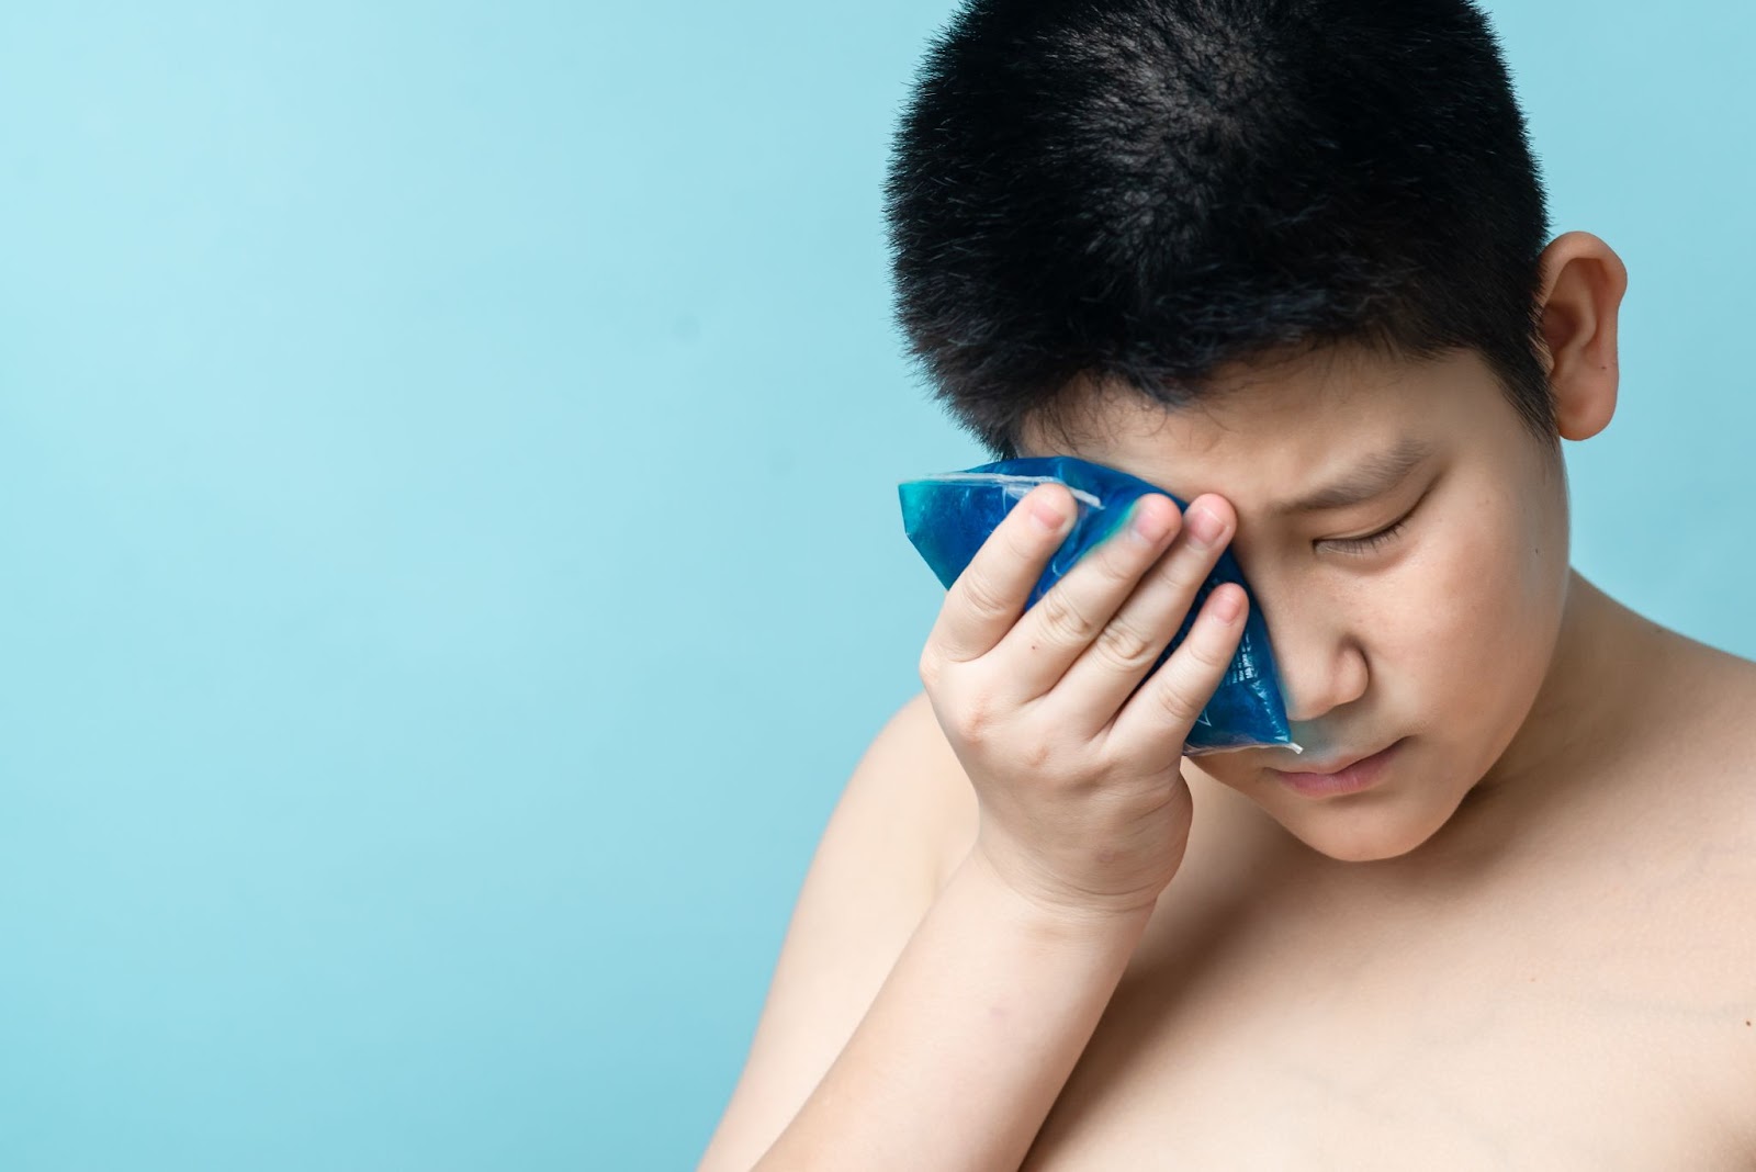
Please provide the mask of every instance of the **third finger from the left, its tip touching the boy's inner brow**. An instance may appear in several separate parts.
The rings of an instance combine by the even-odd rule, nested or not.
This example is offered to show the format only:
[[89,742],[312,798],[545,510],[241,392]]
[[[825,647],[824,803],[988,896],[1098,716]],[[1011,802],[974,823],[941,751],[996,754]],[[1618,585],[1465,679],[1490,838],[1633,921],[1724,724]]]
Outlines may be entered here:
[[[1134,591],[1062,677],[1055,697],[1062,719],[1080,728],[1101,728],[1117,716],[1182,630],[1231,532],[1233,511],[1224,497],[1198,497],[1189,504],[1169,551],[1134,584]],[[1191,712],[1191,723],[1199,711]]]

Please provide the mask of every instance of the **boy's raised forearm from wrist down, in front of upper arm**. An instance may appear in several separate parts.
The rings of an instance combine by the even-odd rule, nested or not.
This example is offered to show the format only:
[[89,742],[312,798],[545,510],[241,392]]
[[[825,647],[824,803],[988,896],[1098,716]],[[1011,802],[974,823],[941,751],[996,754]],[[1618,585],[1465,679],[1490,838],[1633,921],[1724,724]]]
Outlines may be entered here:
[[755,1172],[1015,1170],[1148,916],[1055,914],[968,856]]

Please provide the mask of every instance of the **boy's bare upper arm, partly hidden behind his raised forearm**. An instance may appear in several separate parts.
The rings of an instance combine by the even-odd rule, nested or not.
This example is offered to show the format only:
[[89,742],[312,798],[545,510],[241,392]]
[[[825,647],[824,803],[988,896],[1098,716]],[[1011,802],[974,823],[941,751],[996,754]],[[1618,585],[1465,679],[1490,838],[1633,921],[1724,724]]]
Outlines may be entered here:
[[799,888],[750,1056],[699,1172],[746,1172],[866,1016],[948,874],[973,795],[925,693],[866,749]]

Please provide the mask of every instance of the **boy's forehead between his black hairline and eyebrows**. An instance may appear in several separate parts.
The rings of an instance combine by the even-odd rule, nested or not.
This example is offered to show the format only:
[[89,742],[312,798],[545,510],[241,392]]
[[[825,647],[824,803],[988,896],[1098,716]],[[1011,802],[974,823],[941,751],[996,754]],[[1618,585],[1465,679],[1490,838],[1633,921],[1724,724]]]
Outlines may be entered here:
[[1073,454],[1185,500],[1217,491],[1252,509],[1410,442],[1503,442],[1500,412],[1510,405],[1473,351],[1410,363],[1329,349],[1222,370],[1199,402],[1177,409],[1124,384],[1076,382],[1054,419],[1033,419],[1020,440],[1027,454]]

